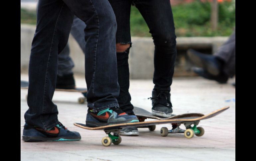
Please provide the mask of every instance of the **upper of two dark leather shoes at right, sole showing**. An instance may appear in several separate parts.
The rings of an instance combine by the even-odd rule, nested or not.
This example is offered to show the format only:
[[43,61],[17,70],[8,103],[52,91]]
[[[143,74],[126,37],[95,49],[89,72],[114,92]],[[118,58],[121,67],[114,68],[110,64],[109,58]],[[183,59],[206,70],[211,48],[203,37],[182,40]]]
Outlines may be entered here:
[[209,74],[217,76],[221,73],[221,61],[216,56],[203,54],[193,49],[189,49],[187,54],[194,64]]

